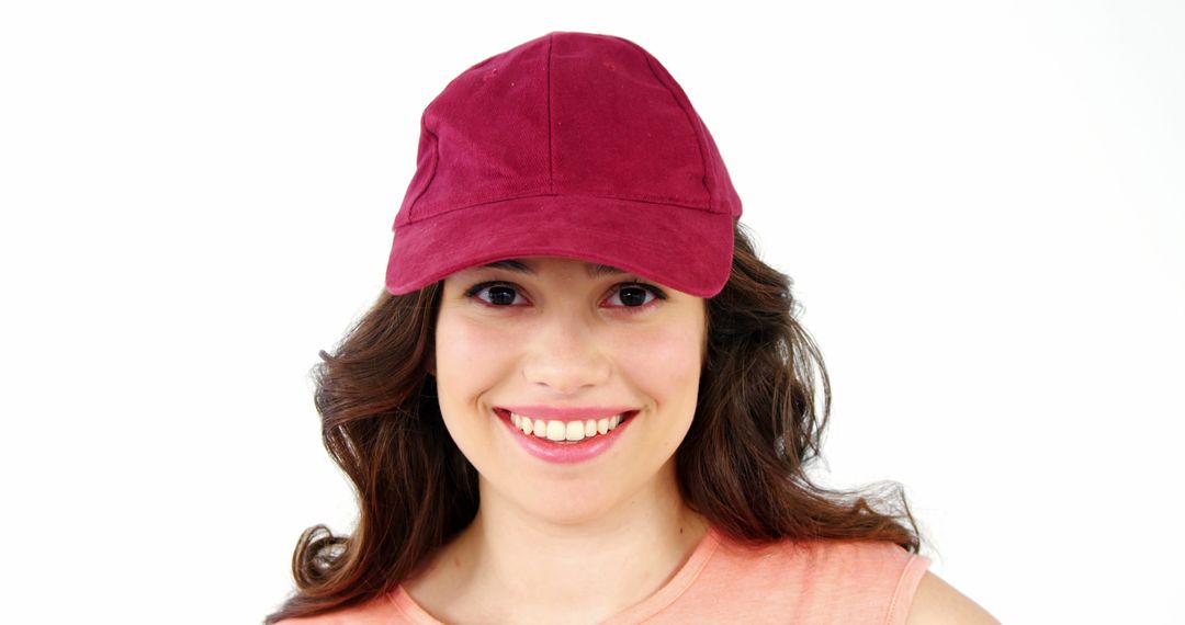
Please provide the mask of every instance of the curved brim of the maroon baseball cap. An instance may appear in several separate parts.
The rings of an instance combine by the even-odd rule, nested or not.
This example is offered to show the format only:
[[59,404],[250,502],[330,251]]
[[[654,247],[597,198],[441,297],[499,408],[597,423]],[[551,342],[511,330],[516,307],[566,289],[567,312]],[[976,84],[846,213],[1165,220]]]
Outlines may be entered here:
[[402,224],[386,289],[403,295],[475,265],[558,256],[632,271],[712,297],[732,265],[734,218],[702,208],[596,196],[536,195]]

